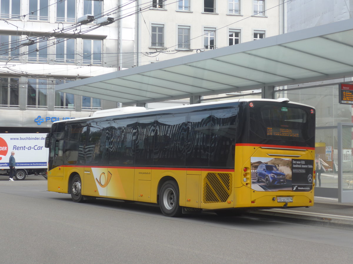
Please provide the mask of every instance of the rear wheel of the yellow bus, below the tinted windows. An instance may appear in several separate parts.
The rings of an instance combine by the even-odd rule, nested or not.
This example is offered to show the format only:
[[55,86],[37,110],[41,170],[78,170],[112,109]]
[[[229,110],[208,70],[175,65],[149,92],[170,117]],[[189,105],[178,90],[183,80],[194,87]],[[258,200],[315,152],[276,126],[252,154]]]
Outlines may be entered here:
[[163,183],[159,195],[159,206],[165,216],[176,217],[181,215],[181,206],[179,206],[179,188],[175,181],[166,181]]

